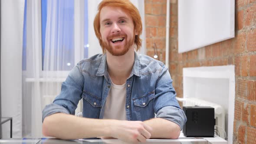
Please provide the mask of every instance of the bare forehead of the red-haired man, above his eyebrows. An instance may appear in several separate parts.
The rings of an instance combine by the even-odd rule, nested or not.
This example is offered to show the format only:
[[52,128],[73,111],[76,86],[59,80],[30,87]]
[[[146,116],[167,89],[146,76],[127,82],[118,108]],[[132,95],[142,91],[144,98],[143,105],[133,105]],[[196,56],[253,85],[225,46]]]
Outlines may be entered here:
[[120,7],[102,7],[102,10],[99,14],[100,22],[106,19],[115,20],[120,17],[126,17],[127,19],[131,19],[130,14],[127,11],[121,9]]

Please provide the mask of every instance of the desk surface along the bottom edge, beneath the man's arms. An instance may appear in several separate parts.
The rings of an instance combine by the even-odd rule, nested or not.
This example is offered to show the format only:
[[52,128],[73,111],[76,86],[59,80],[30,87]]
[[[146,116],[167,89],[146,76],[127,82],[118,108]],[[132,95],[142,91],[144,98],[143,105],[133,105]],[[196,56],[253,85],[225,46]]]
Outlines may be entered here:
[[[56,138],[41,139],[9,139],[0,140],[1,144],[128,144],[118,139],[79,139],[79,140],[58,140]],[[141,144],[223,144],[211,143],[202,137],[180,137],[178,139],[148,139],[146,143]]]

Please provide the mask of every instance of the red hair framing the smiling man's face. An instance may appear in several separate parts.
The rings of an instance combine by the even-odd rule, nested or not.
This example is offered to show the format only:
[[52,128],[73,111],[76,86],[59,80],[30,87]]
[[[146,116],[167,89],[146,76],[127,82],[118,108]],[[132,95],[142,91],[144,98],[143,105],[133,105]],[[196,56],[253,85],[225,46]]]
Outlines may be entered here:
[[[142,33],[142,21],[141,16],[138,9],[129,1],[129,0],[102,0],[101,3],[98,5],[98,13],[94,18],[94,31],[98,38],[99,44],[102,47],[102,39],[100,33],[100,12],[103,7],[120,7],[122,10],[125,10],[128,14],[130,14],[135,32],[138,32],[138,35],[135,35],[135,49],[136,51],[141,47],[141,39],[140,35]],[[106,51],[105,48],[102,47],[103,53]]]

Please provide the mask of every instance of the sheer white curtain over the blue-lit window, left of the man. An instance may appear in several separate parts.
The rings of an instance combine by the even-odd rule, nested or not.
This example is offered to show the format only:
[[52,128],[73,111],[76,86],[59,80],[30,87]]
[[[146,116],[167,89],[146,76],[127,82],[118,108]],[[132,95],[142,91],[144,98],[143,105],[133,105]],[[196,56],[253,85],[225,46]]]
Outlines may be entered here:
[[23,137],[43,137],[42,110],[59,94],[61,83],[75,65],[75,7],[74,0],[26,2]]

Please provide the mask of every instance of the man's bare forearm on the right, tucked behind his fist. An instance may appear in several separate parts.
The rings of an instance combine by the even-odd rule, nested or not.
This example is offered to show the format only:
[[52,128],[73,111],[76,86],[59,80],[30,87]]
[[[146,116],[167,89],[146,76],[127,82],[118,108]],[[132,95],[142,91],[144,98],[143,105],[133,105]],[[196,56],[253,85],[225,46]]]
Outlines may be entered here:
[[153,118],[143,121],[144,124],[151,126],[153,129],[151,138],[172,138],[179,137],[181,129],[178,124],[163,118]]

